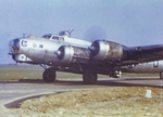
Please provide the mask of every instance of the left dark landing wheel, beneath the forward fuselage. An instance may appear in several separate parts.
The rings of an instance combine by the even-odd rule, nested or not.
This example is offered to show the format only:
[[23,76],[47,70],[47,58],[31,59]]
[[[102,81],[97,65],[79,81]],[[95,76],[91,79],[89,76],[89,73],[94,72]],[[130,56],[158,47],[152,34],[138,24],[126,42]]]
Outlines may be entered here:
[[47,68],[42,74],[46,82],[53,82],[55,80],[55,70],[53,67]]

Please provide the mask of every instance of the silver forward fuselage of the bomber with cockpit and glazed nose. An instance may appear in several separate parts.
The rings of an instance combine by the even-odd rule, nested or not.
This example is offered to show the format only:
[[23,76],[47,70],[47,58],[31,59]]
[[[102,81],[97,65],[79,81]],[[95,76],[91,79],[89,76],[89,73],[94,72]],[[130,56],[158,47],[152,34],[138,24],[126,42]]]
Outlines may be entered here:
[[45,35],[43,37],[17,38],[10,42],[11,54],[17,63],[30,64],[61,64],[54,54],[61,46],[88,48],[91,42],[74,39],[68,36]]

